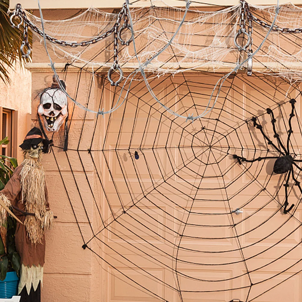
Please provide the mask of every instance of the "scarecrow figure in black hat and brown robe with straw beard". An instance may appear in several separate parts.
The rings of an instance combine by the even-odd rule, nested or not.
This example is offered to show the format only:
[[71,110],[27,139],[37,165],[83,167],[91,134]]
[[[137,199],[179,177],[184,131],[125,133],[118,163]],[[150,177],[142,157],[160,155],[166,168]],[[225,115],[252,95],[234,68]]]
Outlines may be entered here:
[[40,129],[31,129],[20,145],[24,160],[0,191],[0,225],[6,222],[7,213],[17,219],[15,244],[21,257],[20,302],[40,302],[45,256],[44,231],[53,222],[41,163],[42,152],[47,153],[49,143],[49,140],[43,139]]

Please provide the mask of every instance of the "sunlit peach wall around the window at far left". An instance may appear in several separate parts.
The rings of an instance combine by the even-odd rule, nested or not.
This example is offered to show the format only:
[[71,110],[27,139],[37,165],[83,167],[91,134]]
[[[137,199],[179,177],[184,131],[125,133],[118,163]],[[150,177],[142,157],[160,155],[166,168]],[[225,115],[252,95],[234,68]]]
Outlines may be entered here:
[[[0,80],[0,106],[18,110],[18,145],[23,142],[29,128],[31,113],[31,73],[17,64],[15,72],[9,72],[11,84],[5,85]],[[18,148],[18,161],[22,160],[22,152]]]

